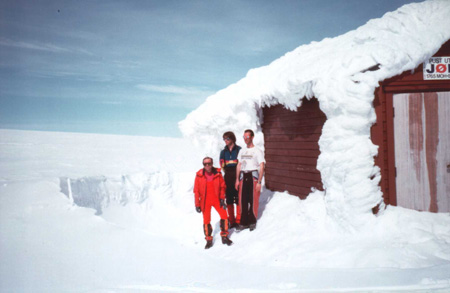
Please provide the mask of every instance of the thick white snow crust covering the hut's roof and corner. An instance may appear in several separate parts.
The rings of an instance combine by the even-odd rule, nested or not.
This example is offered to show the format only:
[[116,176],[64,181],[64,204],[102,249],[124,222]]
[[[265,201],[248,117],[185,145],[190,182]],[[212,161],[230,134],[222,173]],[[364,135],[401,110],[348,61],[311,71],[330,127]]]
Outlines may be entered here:
[[[261,108],[296,110],[303,97],[314,96],[327,116],[317,165],[327,212],[336,220],[369,215],[382,203],[377,146],[370,139],[374,91],[379,81],[413,70],[450,39],[449,15],[448,0],[409,4],[339,37],[300,46],[208,97],[179,127],[211,155],[222,147],[225,131],[234,131],[242,144],[240,134],[252,128],[263,147]],[[375,65],[378,70],[366,70]]]

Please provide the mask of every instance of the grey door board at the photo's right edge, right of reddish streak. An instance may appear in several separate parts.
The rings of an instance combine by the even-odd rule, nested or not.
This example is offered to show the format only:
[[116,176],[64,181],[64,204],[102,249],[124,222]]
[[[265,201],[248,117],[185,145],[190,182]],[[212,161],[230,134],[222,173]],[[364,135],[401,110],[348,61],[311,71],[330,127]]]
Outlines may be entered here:
[[438,93],[439,144],[437,148],[438,212],[450,212],[450,92]]

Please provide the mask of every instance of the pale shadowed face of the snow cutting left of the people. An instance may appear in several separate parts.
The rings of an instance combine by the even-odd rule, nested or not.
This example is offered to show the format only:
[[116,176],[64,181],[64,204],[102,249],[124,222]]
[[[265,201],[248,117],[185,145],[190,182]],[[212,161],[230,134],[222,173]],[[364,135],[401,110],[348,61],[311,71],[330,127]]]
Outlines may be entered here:
[[169,172],[159,171],[110,177],[60,177],[59,180],[61,192],[73,204],[93,208],[97,215],[101,215],[112,202],[122,206],[141,204],[151,194],[171,194],[173,176]]

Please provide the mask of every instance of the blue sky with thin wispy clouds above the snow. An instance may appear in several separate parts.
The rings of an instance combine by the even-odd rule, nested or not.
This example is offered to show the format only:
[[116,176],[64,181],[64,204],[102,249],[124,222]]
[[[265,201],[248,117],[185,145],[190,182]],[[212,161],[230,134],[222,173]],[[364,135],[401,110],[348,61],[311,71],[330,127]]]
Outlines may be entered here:
[[207,96],[407,0],[0,2],[0,128],[180,137]]

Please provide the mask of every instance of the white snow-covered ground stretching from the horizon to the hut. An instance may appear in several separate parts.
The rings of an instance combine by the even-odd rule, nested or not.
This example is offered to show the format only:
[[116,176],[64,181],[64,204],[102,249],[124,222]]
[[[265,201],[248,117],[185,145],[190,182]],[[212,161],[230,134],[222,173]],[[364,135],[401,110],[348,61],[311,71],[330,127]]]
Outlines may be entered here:
[[321,192],[265,190],[255,231],[204,249],[188,140],[0,130],[1,292],[450,292],[450,215],[345,229]]

